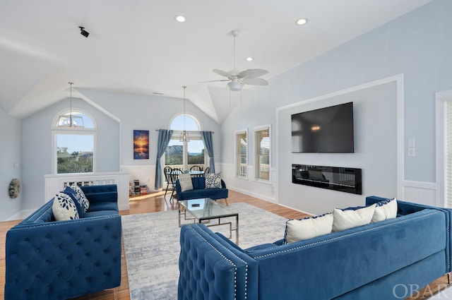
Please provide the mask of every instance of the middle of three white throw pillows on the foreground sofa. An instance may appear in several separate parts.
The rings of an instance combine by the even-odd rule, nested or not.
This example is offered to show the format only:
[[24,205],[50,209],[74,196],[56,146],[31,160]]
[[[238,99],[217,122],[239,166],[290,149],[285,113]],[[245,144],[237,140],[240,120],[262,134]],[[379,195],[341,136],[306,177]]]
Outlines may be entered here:
[[375,204],[357,210],[333,210],[333,232],[369,224],[374,216]]

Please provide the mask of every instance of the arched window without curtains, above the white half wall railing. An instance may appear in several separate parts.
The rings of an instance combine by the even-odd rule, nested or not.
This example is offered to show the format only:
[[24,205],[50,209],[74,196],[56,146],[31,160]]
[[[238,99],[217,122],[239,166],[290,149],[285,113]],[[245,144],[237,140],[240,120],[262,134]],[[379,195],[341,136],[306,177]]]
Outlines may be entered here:
[[54,174],[96,171],[97,129],[93,116],[80,109],[59,112],[52,121]]

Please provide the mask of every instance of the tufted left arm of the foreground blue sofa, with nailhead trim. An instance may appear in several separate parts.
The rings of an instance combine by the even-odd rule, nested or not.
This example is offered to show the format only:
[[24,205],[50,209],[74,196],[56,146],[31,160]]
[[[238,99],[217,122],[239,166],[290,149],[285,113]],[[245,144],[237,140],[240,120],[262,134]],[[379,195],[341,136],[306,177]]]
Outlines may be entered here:
[[258,265],[204,224],[184,225],[180,235],[179,300],[258,299]]

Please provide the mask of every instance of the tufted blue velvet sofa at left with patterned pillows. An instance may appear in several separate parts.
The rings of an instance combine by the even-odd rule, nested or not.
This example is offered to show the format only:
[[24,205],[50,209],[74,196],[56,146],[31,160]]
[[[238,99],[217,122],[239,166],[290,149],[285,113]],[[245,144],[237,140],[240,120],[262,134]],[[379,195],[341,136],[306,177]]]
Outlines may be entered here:
[[5,300],[69,299],[121,283],[117,186],[83,186],[90,208],[55,221],[53,200],[6,234]]

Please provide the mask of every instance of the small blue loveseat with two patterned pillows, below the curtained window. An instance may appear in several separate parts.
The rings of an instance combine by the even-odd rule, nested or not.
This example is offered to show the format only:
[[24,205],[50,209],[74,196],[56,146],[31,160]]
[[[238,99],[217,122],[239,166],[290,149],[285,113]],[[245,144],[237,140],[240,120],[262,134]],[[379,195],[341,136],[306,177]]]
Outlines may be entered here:
[[193,189],[190,191],[182,191],[179,179],[176,181],[177,200],[190,200],[199,198],[210,198],[213,200],[225,199],[227,203],[228,190],[225,181],[221,179],[221,188],[206,188],[204,177],[191,177]]

